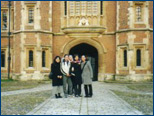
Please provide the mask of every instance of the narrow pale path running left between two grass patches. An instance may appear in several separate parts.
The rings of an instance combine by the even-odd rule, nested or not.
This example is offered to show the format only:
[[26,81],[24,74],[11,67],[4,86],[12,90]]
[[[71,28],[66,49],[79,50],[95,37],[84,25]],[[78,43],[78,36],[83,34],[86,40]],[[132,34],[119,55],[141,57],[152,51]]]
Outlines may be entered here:
[[46,91],[46,90],[51,90],[51,89],[52,89],[51,84],[47,84],[47,85],[41,85],[41,86],[31,88],[31,89],[21,89],[21,90],[15,90],[15,91],[1,92],[1,96],[17,95],[17,94],[23,94],[23,93],[33,93],[33,92]]

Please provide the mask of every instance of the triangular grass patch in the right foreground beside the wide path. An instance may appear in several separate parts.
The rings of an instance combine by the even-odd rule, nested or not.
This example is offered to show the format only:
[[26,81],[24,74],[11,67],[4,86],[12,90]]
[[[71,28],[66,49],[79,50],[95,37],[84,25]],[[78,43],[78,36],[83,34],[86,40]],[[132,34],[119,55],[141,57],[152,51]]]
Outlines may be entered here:
[[132,107],[143,112],[145,115],[153,114],[153,95],[140,95],[135,93],[120,92],[117,90],[112,91],[129,103]]

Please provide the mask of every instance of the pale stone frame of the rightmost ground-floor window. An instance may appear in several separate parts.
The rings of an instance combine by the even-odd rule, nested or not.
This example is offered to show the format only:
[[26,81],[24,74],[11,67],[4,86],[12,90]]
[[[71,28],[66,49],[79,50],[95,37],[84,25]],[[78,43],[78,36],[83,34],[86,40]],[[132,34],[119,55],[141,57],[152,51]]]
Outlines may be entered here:
[[[137,66],[137,50],[141,50],[141,66]],[[135,70],[144,70],[145,69],[145,50],[146,50],[146,45],[145,44],[134,44],[134,68]]]

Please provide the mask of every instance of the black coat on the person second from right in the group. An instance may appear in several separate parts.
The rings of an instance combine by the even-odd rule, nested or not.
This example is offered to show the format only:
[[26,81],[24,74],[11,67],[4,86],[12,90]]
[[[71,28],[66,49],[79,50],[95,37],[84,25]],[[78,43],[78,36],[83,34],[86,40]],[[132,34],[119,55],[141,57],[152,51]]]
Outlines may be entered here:
[[[72,68],[74,68],[74,71],[72,71]],[[71,63],[70,74],[72,74],[71,79],[74,85],[82,84],[81,64],[75,62]]]

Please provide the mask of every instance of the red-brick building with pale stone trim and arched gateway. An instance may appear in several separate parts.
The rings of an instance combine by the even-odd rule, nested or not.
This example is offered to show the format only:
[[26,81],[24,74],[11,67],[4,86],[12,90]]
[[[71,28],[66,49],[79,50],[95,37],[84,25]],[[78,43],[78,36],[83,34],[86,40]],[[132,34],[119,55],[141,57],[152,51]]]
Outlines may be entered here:
[[[7,74],[8,2],[1,2]],[[153,79],[153,1],[12,1],[11,74],[44,79],[56,55],[85,54],[94,80]]]

